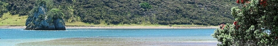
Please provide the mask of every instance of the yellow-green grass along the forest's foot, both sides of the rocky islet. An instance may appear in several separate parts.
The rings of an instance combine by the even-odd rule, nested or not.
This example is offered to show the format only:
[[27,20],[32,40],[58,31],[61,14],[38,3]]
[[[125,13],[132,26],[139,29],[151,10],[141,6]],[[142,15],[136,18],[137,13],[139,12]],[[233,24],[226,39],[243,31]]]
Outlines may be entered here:
[[[3,14],[3,17],[0,18],[0,26],[25,26],[25,22],[28,16],[19,16],[19,15],[11,15],[10,13]],[[146,25],[146,24],[122,24],[122,25],[107,25],[107,24],[88,24],[84,22],[66,22],[66,26],[169,26],[169,25]],[[172,26],[199,26],[201,25],[172,25]]]

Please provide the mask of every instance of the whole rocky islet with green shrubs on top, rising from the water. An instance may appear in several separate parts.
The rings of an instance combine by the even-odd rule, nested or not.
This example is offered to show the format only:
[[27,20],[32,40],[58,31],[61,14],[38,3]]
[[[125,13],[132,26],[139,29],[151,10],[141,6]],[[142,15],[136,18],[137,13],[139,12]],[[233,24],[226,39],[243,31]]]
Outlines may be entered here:
[[40,1],[36,5],[31,11],[33,14],[30,13],[26,20],[25,30],[66,30],[61,10],[47,6],[47,1]]

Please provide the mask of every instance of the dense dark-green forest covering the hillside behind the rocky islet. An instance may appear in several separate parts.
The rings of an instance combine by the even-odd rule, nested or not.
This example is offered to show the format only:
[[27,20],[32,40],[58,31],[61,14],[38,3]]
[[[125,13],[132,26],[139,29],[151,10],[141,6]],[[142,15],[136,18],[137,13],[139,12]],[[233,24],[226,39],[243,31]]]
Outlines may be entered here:
[[[236,0],[53,0],[66,22],[90,24],[219,25],[233,22]],[[1,0],[0,17],[30,15],[36,0]]]

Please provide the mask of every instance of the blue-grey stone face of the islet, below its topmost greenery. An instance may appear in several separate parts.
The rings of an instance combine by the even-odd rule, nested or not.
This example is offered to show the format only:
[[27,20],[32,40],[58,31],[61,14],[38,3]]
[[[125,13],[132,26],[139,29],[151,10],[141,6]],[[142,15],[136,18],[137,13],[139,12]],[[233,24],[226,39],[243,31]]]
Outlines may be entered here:
[[47,7],[45,5],[40,6],[38,11],[27,18],[25,30],[66,30],[63,19],[53,18],[46,14]]

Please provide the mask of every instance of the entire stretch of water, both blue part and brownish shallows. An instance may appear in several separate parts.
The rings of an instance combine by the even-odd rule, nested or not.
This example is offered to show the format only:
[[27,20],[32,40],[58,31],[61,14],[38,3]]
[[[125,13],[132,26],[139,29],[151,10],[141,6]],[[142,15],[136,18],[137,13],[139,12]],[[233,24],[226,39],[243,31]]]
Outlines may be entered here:
[[[0,46],[14,45],[216,45],[215,29],[0,29]],[[47,43],[48,42],[48,43]]]

